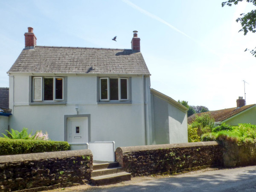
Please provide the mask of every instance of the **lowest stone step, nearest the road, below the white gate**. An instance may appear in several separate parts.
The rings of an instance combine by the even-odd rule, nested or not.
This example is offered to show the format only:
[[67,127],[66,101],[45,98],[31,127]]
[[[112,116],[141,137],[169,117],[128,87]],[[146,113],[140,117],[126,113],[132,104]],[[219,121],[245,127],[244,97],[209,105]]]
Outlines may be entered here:
[[91,177],[91,183],[96,186],[120,183],[125,180],[131,180],[130,173],[119,172],[119,173],[115,173],[115,174]]

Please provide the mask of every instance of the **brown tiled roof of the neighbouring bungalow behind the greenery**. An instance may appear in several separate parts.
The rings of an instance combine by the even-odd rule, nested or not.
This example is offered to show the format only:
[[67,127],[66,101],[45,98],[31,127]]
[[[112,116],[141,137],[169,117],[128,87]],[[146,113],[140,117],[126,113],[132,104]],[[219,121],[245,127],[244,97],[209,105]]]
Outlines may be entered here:
[[193,115],[188,117],[188,124],[191,124],[193,122],[196,115],[201,116],[204,114],[211,114],[211,116],[215,119],[215,122],[221,122],[221,121],[224,121],[224,120],[230,118],[231,116],[234,116],[248,108],[253,107],[254,105],[256,105],[256,104],[245,105],[241,108],[228,108],[228,109],[221,109],[221,110],[217,110],[217,111],[207,111],[204,113],[194,113]]

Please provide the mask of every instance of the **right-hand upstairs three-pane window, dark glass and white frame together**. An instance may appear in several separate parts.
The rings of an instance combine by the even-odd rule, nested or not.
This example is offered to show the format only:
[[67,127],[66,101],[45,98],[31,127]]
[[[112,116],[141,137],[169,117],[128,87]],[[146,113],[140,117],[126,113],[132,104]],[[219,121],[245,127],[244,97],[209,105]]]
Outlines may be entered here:
[[99,79],[100,101],[127,101],[128,99],[128,78]]

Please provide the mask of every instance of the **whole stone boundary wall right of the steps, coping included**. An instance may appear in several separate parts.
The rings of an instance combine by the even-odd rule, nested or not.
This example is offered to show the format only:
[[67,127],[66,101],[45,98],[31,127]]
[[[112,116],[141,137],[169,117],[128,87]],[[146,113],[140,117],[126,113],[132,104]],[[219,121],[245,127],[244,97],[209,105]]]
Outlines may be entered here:
[[223,166],[223,146],[215,141],[116,148],[116,161],[132,176],[175,174]]

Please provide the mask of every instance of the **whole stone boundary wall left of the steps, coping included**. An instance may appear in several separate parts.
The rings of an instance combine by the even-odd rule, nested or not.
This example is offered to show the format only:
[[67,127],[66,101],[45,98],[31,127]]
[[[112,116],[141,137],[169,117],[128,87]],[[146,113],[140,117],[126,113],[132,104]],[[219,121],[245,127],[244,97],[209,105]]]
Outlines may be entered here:
[[4,155],[0,156],[0,191],[40,191],[88,183],[92,171],[89,149]]

